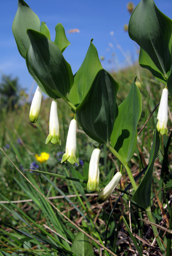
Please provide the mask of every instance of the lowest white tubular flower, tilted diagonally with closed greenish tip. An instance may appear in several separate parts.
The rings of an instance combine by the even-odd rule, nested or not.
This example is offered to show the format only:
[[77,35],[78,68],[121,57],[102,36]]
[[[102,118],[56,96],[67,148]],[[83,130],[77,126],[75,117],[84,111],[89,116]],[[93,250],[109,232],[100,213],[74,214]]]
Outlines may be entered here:
[[97,202],[99,204],[104,203],[108,199],[108,197],[112,194],[113,190],[116,188],[116,186],[120,182],[121,177],[122,177],[121,172],[117,172],[113,176],[113,178],[109,182],[109,184],[107,186],[105,186],[105,188],[99,193],[99,196],[97,198]]

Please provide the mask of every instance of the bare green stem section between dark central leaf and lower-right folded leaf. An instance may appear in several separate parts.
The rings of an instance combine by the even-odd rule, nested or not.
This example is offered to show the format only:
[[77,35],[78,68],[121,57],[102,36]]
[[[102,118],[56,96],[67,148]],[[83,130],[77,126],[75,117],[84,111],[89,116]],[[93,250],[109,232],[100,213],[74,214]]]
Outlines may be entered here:
[[118,160],[119,160],[119,161],[123,164],[123,166],[126,168],[126,171],[127,171],[128,177],[129,177],[129,179],[130,179],[130,181],[131,181],[131,184],[132,184],[134,190],[136,191],[137,185],[136,185],[136,182],[135,182],[135,180],[134,180],[134,177],[132,176],[132,172],[131,172],[131,169],[130,169],[129,166],[128,166],[128,163],[126,163],[126,161],[120,156],[120,154],[118,154],[118,152],[117,152],[115,149],[113,149],[113,147],[112,147],[111,145],[108,145],[107,147],[108,147],[108,149],[112,152],[112,154],[113,154],[116,158],[118,158]]

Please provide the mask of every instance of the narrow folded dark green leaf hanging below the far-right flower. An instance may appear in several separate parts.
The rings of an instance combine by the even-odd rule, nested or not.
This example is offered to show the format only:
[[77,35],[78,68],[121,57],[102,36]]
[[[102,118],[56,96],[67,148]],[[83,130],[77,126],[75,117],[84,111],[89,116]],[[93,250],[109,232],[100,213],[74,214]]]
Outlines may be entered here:
[[[157,123],[156,123],[157,125]],[[143,177],[142,181],[140,182],[136,192],[132,196],[132,199],[141,207],[147,208],[150,206],[150,196],[151,196],[151,187],[152,187],[152,175],[154,169],[154,162],[157,157],[159,150],[159,135],[158,131],[155,126],[154,130],[154,139],[152,148],[150,150],[150,158],[149,158],[149,165],[145,172],[145,176]]]

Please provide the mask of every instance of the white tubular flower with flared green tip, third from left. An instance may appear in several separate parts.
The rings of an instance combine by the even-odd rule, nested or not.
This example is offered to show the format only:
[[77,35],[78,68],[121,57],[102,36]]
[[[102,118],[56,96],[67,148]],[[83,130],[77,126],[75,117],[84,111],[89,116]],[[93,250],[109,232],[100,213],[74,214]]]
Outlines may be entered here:
[[68,161],[69,163],[77,163],[79,165],[79,160],[76,157],[77,150],[77,121],[73,119],[70,122],[68,136],[66,141],[66,153],[63,154],[61,163]]

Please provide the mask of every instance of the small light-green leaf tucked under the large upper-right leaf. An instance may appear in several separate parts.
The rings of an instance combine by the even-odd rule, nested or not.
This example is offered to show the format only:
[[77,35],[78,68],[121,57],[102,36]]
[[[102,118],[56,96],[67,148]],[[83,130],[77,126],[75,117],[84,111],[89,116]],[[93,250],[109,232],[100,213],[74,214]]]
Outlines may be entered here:
[[140,47],[139,64],[142,68],[148,69],[154,77],[156,77],[163,84],[167,83],[167,79],[163,77],[149,55]]

